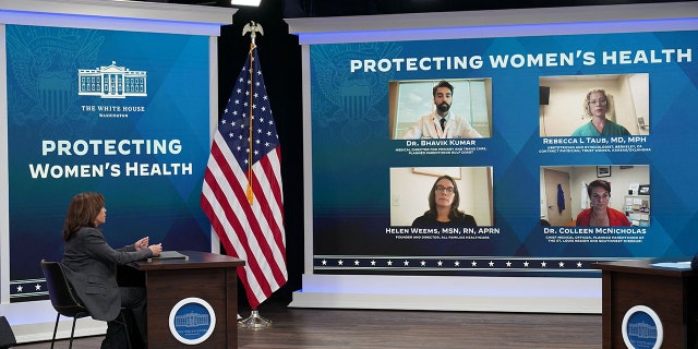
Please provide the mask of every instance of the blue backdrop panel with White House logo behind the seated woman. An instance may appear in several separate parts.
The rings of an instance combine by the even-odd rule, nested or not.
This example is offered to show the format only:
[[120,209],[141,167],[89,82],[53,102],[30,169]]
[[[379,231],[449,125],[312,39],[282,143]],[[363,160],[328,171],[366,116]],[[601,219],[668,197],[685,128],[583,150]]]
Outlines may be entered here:
[[[209,251],[207,36],[7,26],[11,299],[60,260],[71,197],[106,197],[113,248]],[[45,290],[45,289],[43,289]],[[41,290],[38,290],[41,291]]]

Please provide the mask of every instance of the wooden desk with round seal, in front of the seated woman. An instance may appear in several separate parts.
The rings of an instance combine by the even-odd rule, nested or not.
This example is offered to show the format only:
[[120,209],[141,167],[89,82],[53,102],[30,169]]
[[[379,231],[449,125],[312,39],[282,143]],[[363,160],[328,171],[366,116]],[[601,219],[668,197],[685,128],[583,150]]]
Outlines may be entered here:
[[[244,261],[208,252],[179,252],[188,258],[130,264],[145,274],[148,348],[238,348],[237,267],[243,266]],[[182,336],[179,327],[172,327],[176,308],[192,301],[209,304],[215,317],[215,326],[209,326],[213,332],[200,344],[183,342],[182,338],[191,339]],[[178,317],[180,323],[184,321],[184,315]]]

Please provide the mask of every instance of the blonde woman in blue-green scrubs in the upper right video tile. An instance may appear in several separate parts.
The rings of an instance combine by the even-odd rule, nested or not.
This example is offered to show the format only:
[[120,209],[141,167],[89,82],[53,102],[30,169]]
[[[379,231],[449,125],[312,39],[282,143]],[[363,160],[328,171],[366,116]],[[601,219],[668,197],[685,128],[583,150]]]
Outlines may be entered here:
[[591,121],[575,130],[573,136],[630,135],[626,128],[606,119],[606,113],[613,110],[613,99],[610,97],[603,88],[592,88],[587,93],[583,108]]

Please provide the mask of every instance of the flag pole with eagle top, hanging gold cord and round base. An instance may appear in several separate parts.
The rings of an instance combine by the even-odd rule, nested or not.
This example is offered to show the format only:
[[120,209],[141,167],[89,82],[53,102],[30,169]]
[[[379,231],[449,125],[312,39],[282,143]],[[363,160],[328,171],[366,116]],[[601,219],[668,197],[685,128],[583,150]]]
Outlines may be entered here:
[[[254,58],[254,52],[252,50],[254,50],[256,48],[256,44],[255,44],[255,38],[256,38],[256,33],[260,33],[262,35],[264,35],[264,29],[262,28],[262,25],[260,23],[254,23],[254,21],[251,21],[250,23],[245,24],[244,28],[242,28],[242,36],[244,36],[246,33],[251,33],[250,37],[252,39],[252,43],[250,43],[250,59]],[[254,79],[254,62],[250,62],[250,80]],[[253,89],[254,88],[254,82],[250,81],[250,154],[249,154],[249,168],[248,168],[248,190],[246,190],[246,196],[248,196],[248,202],[250,203],[250,205],[254,205],[254,191],[252,188],[252,180],[253,180],[253,173],[252,173],[252,122],[254,119],[253,116],[253,108],[252,108],[252,98],[254,96]],[[250,328],[250,329],[262,329],[262,328],[268,328],[272,327],[272,321],[268,318],[264,318],[260,315],[260,312],[257,311],[257,309],[252,309],[252,312],[250,313],[249,317],[245,318],[241,318],[238,320],[238,327],[241,328]]]

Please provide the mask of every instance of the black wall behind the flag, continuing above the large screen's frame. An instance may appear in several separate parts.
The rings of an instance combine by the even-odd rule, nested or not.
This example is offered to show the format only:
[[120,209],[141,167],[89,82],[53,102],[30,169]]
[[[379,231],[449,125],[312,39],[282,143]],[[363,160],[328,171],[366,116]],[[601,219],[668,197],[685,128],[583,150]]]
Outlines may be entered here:
[[[230,7],[229,0],[149,0],[153,2]],[[225,108],[233,80],[246,58],[250,37],[242,36],[250,21],[260,23],[264,35],[256,37],[262,72],[281,144],[281,176],[286,248],[289,280],[275,298],[290,301],[300,288],[303,274],[303,136],[301,50],[298,38],[288,34],[284,19],[373,15],[396,13],[504,10],[524,8],[581,7],[624,3],[664,3],[688,1],[643,0],[262,0],[258,8],[241,7],[233,24],[225,26],[218,40],[219,115]],[[593,20],[593,19],[590,19]],[[240,292],[244,297],[244,292]]]

